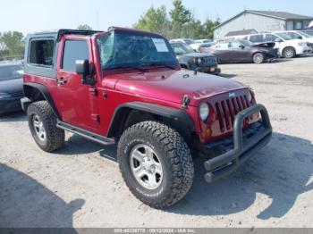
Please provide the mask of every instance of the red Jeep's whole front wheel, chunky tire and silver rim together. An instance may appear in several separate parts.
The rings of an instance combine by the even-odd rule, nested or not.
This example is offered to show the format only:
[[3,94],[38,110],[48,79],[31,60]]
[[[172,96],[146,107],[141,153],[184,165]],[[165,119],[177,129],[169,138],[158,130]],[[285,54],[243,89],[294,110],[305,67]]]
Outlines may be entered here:
[[165,208],[190,190],[194,174],[190,149],[165,124],[143,121],[125,130],[117,157],[123,180],[146,205]]

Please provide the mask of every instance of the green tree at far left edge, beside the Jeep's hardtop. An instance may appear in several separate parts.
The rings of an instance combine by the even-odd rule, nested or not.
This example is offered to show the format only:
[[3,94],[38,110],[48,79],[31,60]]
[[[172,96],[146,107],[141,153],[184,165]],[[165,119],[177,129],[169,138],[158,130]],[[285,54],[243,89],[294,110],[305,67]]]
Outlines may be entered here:
[[2,45],[2,50],[6,50],[9,56],[24,54],[24,37],[21,32],[4,32],[0,43]]

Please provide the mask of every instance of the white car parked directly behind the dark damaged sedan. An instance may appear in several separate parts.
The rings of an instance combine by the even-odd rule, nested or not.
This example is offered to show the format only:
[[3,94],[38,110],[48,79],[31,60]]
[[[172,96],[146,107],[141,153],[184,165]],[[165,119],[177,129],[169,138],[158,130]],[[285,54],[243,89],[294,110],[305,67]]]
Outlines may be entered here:
[[300,39],[292,39],[283,32],[268,32],[251,34],[243,37],[243,39],[250,40],[252,43],[275,42],[275,48],[278,49],[279,56],[284,58],[293,58],[300,54],[311,53],[311,46]]

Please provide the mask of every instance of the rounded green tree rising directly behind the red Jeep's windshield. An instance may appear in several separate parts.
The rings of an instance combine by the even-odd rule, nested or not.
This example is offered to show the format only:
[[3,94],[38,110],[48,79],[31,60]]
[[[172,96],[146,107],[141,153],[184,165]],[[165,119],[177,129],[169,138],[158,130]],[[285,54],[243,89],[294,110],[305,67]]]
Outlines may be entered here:
[[164,5],[155,9],[151,6],[147,13],[140,16],[140,20],[133,25],[134,29],[148,30],[170,36],[170,21],[168,20]]

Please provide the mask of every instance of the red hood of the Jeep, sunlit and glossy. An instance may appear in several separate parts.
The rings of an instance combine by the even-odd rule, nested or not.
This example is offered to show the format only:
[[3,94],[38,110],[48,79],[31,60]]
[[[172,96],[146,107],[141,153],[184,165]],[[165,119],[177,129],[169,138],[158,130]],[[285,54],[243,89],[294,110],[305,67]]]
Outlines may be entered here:
[[247,88],[231,79],[184,70],[114,74],[106,76],[104,80],[107,84],[114,82],[114,89],[120,92],[179,104],[182,103],[182,97],[188,95],[190,105],[194,106],[210,96]]

